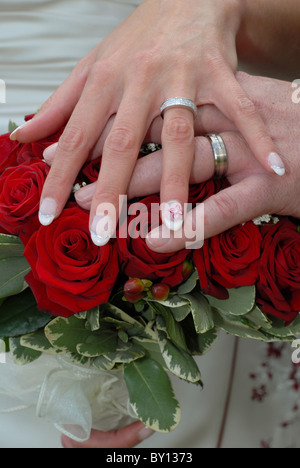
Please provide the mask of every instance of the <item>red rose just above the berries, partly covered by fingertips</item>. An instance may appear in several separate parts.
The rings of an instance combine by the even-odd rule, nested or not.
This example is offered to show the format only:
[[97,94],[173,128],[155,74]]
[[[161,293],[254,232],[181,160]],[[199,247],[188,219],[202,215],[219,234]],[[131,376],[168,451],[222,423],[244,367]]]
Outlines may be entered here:
[[[156,195],[147,197],[141,200],[140,204],[130,205],[129,209],[134,210],[137,207],[140,212],[128,216],[127,237],[125,238],[124,235],[124,238],[120,238],[120,234],[118,236],[122,270],[129,277],[147,278],[152,281],[161,280],[171,287],[181,284],[184,280],[183,263],[189,251],[181,250],[171,254],[156,253],[148,248],[145,241],[148,232],[160,224],[160,198]],[[122,232],[122,226],[120,232]]]

